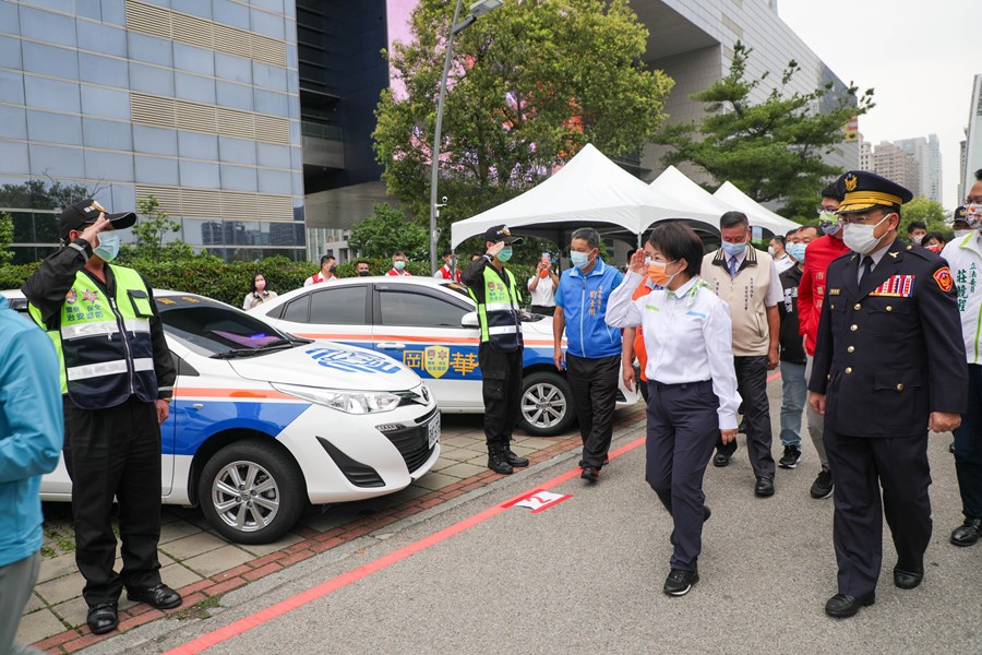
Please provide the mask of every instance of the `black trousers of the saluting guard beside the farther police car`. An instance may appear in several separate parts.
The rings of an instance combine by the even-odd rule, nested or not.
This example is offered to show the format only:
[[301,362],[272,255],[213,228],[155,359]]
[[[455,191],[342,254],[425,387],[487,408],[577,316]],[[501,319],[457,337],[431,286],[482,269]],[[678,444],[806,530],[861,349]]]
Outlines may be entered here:
[[514,353],[501,353],[482,343],[478,347],[484,396],[484,440],[488,448],[512,441],[512,431],[518,424],[522,403],[522,348]]

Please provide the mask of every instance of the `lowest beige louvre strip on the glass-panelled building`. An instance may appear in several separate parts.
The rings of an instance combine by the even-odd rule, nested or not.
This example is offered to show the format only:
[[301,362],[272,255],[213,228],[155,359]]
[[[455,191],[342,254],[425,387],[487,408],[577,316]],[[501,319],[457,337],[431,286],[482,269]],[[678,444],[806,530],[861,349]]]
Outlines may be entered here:
[[157,199],[163,212],[185,218],[284,222],[294,219],[291,195],[136,184],[136,198],[147,195]]

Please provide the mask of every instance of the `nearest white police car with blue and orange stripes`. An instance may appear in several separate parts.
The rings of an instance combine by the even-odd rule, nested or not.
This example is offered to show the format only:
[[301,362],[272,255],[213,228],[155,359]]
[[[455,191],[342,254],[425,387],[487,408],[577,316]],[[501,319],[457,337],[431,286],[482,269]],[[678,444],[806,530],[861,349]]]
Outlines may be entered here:
[[[3,291],[25,308],[20,291]],[[409,368],[284,334],[193,294],[154,291],[178,370],[161,426],[163,501],[200,504],[232,541],[264,544],[310,501],[392,493],[440,456],[440,412]],[[63,461],[44,500],[71,500]]]

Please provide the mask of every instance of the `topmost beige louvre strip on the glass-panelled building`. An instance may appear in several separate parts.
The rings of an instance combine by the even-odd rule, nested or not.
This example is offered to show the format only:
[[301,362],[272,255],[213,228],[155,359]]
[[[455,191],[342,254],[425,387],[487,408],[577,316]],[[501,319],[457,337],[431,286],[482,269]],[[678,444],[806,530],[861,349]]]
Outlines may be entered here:
[[286,67],[286,47],[274,38],[190,14],[127,0],[127,28],[226,55]]

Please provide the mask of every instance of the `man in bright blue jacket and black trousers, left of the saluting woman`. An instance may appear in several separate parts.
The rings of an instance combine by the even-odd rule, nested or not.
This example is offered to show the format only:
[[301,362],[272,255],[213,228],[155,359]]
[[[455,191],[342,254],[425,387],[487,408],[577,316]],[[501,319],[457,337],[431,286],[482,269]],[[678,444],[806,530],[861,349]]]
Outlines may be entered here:
[[[583,437],[579,477],[595,483],[607,461],[613,436],[621,370],[621,331],[607,324],[607,299],[624,276],[600,259],[600,235],[592,227],[573,233],[573,267],[563,271],[552,317],[553,360],[567,371]],[[563,331],[567,350],[563,356]]]

